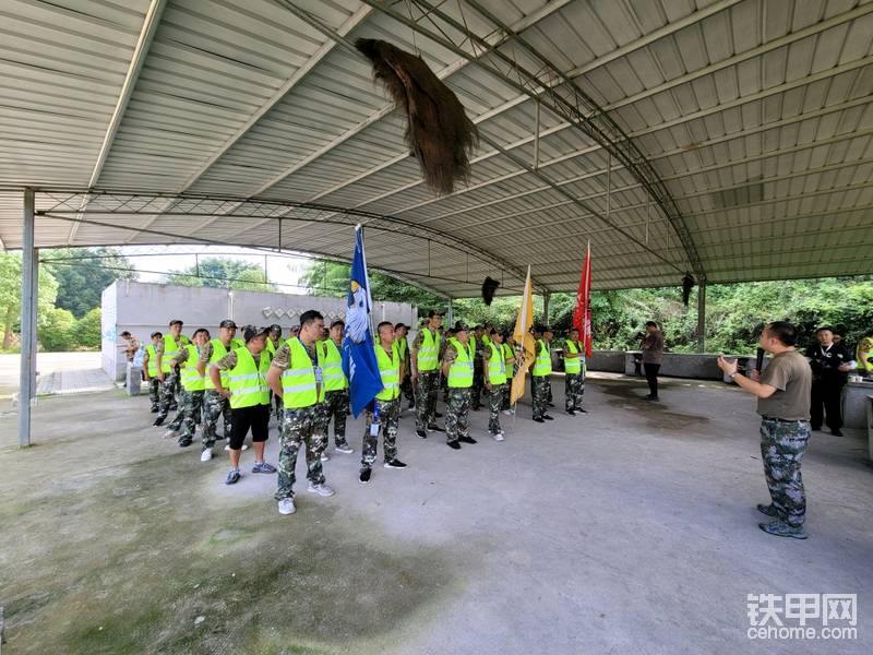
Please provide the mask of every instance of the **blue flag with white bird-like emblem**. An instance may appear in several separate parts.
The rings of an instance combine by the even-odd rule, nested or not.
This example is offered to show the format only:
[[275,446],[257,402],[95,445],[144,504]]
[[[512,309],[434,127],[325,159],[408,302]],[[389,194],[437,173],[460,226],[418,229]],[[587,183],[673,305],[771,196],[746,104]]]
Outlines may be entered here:
[[351,260],[348,299],[346,301],[346,333],[343,338],[343,370],[348,378],[351,413],[357,416],[382,391],[382,377],[373,349],[370,331],[370,279],[363,254],[363,228],[355,228],[355,258]]

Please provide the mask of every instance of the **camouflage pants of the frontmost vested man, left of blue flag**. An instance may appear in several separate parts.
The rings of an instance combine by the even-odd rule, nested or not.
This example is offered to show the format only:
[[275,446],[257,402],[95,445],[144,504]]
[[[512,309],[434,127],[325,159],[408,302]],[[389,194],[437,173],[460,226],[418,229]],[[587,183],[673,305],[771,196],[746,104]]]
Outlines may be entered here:
[[283,412],[282,432],[279,434],[279,466],[276,500],[294,498],[295,466],[300,446],[306,449],[307,478],[313,484],[324,481],[321,466],[321,453],[327,444],[326,434],[320,430],[322,412],[319,405]]

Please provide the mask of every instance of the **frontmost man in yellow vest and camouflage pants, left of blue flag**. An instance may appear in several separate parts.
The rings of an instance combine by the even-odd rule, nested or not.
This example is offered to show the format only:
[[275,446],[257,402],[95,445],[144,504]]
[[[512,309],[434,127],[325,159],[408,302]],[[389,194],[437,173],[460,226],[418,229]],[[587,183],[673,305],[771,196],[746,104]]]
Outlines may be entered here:
[[267,373],[273,393],[282,396],[285,407],[280,431],[279,475],[276,488],[279,514],[294,514],[295,466],[303,445],[307,458],[307,491],[328,497],[321,462],[326,432],[320,430],[319,404],[324,401],[324,371],[319,365],[319,344],[324,332],[324,317],[314,309],[300,314],[300,330],[276,350]]

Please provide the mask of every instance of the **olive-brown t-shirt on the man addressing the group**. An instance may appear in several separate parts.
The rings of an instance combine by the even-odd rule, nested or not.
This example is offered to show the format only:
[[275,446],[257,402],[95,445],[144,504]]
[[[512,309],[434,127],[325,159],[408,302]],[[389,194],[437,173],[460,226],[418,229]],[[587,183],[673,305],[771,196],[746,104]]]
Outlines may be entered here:
[[810,389],[812,369],[797,350],[786,350],[774,356],[761,383],[776,388],[768,398],[757,400],[757,413],[782,420],[810,420]]

